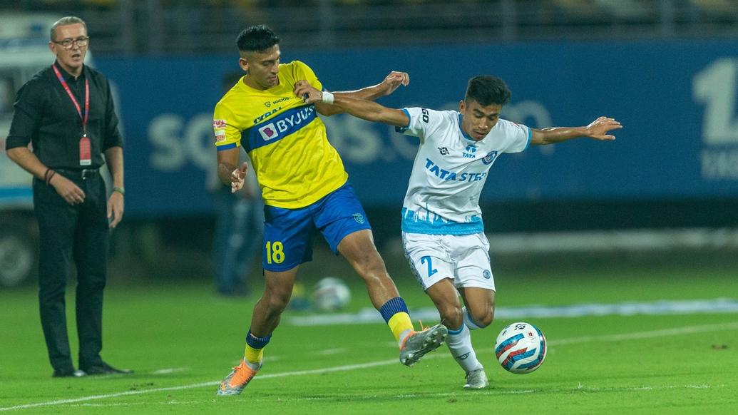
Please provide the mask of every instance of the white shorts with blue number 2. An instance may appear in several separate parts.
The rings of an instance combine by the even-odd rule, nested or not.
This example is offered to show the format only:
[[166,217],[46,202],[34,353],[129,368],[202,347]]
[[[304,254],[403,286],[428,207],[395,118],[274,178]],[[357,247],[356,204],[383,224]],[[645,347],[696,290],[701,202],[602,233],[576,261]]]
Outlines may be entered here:
[[472,235],[426,235],[402,233],[405,258],[415,278],[429,289],[444,278],[454,287],[492,289],[494,277],[489,264],[489,241],[484,233]]

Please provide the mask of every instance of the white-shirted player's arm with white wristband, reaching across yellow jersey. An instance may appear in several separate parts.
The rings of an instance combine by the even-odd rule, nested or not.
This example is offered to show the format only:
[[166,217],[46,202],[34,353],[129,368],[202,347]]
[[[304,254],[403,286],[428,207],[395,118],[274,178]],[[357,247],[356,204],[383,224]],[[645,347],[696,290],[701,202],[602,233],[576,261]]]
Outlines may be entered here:
[[306,103],[331,104],[331,106],[337,106],[354,117],[359,117],[363,120],[398,127],[404,127],[410,123],[407,114],[401,109],[387,108],[370,100],[356,99],[345,95],[334,95],[330,92],[321,92],[308,83],[299,83],[296,85],[294,93],[298,97],[302,97]]

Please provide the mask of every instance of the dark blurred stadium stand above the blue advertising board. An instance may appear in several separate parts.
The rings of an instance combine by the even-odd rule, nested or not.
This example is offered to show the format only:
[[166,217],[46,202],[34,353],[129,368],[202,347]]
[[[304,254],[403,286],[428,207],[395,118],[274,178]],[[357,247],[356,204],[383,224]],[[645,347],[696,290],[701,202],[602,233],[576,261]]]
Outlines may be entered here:
[[0,6],[0,13],[62,10],[104,22],[91,28],[96,51],[122,55],[232,52],[232,34],[254,22],[274,27],[292,47],[311,49],[738,35],[736,0],[21,0]]

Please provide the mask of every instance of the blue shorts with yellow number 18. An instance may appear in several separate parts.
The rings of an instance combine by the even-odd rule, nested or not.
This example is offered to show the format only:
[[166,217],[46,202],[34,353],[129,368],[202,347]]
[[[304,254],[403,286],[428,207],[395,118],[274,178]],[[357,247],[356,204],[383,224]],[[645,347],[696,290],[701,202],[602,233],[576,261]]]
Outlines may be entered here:
[[318,230],[338,255],[341,240],[364,229],[371,226],[348,183],[299,209],[265,206],[261,264],[264,270],[280,272],[311,261],[313,237]]

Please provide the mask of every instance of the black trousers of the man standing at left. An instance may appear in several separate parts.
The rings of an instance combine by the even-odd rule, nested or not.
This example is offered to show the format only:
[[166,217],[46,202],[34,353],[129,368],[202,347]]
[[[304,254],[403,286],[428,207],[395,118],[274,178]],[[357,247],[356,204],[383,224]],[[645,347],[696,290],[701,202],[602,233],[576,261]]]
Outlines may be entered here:
[[85,201],[69,205],[52,186],[33,182],[33,205],[40,231],[38,301],[49,360],[56,370],[73,368],[66,331],[64,291],[70,264],[77,268],[79,367],[102,363],[103,288],[106,284],[108,220],[105,182],[100,174],[83,179],[63,173],[85,192]]

